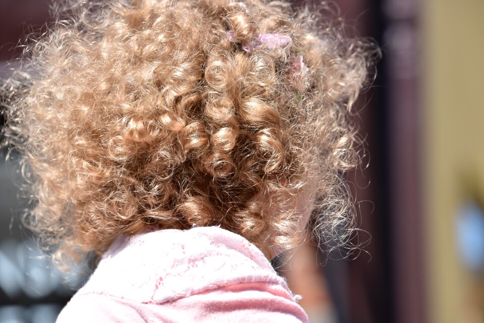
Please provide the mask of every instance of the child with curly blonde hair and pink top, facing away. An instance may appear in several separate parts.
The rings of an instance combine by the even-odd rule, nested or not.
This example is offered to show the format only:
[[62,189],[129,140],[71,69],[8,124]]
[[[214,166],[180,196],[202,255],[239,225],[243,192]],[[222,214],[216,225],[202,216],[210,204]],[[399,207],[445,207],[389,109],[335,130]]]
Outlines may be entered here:
[[306,322],[267,259],[311,214],[325,241],[351,232],[367,45],[265,0],[57,13],[2,93],[26,224],[57,264],[100,259],[57,321]]

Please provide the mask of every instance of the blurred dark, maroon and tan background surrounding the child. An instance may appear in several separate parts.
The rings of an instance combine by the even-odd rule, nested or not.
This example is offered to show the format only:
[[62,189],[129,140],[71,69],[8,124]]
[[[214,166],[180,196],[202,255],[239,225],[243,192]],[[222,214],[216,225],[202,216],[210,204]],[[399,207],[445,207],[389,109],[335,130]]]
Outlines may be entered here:
[[[358,102],[369,166],[347,177],[371,241],[343,260],[308,244],[277,267],[312,323],[484,322],[484,2],[334,3],[348,35],[383,52]],[[0,78],[48,12],[49,0],[0,0]],[[2,156],[0,323],[50,323],[85,277],[62,277],[20,228]]]

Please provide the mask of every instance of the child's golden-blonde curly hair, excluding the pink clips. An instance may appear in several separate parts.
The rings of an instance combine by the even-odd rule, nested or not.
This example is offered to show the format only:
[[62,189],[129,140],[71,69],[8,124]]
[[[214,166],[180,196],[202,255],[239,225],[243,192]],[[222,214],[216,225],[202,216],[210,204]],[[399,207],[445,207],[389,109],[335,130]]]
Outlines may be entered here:
[[[4,142],[34,201],[24,220],[53,254],[102,254],[148,226],[288,250],[305,189],[317,235],[346,241],[367,41],[264,0],[68,0],[56,15],[2,87]],[[244,48],[263,33],[290,41]],[[296,55],[307,69],[291,73]]]

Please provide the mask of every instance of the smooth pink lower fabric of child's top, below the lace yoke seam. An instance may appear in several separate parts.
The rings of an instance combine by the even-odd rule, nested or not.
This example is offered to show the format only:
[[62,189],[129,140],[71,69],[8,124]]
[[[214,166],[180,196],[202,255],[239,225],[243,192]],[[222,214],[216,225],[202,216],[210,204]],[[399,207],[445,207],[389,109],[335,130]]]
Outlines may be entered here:
[[304,310],[278,285],[240,283],[175,301],[140,303],[111,295],[76,294],[56,323],[141,322],[308,323]]

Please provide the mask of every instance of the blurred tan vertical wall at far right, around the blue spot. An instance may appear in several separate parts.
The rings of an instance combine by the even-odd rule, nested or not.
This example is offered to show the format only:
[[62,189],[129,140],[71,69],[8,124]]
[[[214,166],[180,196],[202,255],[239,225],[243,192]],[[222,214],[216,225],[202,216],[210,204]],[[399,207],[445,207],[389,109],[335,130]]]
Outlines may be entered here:
[[423,3],[422,156],[430,322],[482,322],[482,298],[473,300],[484,292],[458,261],[454,217],[470,193],[484,200],[484,2]]

